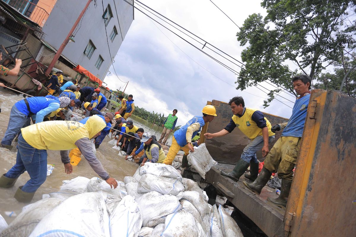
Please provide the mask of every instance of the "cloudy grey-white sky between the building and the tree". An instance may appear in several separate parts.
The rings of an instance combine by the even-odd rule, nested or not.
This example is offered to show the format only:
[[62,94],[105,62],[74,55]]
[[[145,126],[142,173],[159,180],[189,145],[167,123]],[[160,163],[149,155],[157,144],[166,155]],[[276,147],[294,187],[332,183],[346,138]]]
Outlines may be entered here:
[[[209,0],[142,2],[234,58],[241,59],[240,53],[244,47],[240,47],[236,39],[238,28]],[[261,0],[213,2],[239,26],[250,14],[266,15],[266,11],[260,6]],[[201,109],[207,101],[216,99],[228,102],[239,95],[244,97],[246,107],[290,117],[292,109],[276,100],[263,109],[266,93],[256,87],[249,87],[244,91],[236,90],[237,76],[234,73],[156,22],[155,24],[158,28],[150,18],[135,10],[135,20],[115,56],[117,75],[122,81],[129,81],[125,93],[133,95],[136,106],[147,111],[164,113],[166,116],[176,108],[177,125],[183,125],[194,115],[201,115]],[[189,42],[193,40],[190,39]],[[195,45],[202,48],[198,43]],[[206,50],[208,49],[205,48],[204,51],[209,52]],[[227,61],[224,60],[224,63]],[[232,66],[231,63],[229,65],[239,71],[238,66]],[[111,74],[104,79],[108,87],[116,90],[123,86],[124,83],[117,79],[112,66],[109,71]],[[268,84],[263,86],[271,88]],[[295,100],[284,92],[281,95],[291,101]],[[277,98],[293,107],[293,103],[286,99]]]

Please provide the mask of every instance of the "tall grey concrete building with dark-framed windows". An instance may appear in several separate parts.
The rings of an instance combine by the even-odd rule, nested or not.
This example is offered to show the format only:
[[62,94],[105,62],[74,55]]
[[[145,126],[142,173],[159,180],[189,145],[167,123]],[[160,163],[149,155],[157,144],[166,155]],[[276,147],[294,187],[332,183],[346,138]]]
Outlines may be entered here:
[[[86,3],[57,0],[43,25],[44,41],[58,49]],[[104,0],[103,4],[104,11],[101,1],[89,5],[73,33],[75,42],[69,42],[62,53],[70,63],[79,64],[101,80],[111,65],[110,53],[113,60],[133,21],[133,7],[127,2]]]

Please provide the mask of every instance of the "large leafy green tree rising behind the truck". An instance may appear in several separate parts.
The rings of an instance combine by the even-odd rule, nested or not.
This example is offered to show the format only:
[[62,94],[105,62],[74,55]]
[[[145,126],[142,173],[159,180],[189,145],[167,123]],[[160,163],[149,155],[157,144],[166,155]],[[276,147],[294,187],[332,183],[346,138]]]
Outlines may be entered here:
[[[345,49],[355,48],[356,1],[340,0],[264,0],[267,16],[250,15],[237,32],[245,69],[237,78],[237,89],[271,81],[279,88],[269,92],[264,106],[281,91],[294,93],[290,78],[296,74],[318,77],[329,65],[340,62]],[[352,26],[349,26],[352,25]],[[298,69],[291,71],[287,63]]]

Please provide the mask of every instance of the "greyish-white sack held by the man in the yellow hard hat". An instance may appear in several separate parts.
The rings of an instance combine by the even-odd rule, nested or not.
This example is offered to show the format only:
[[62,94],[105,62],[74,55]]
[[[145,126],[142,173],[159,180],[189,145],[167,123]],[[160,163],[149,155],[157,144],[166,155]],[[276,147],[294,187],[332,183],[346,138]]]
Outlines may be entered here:
[[205,179],[205,173],[210,170],[212,166],[215,166],[218,162],[213,160],[209,151],[206,149],[205,143],[199,145],[194,152],[190,152],[187,156],[188,162],[192,167]]

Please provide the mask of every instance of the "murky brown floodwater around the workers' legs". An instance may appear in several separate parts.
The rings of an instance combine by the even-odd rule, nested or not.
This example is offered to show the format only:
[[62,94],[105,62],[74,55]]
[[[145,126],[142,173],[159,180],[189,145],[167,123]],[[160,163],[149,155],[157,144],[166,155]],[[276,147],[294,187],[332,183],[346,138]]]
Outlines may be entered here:
[[[22,95],[13,93],[4,88],[0,88],[0,139],[3,138],[6,131],[11,107],[21,99],[23,99]],[[139,128],[143,128],[145,131],[150,131],[152,135],[156,135],[157,140],[159,139],[163,130],[161,127],[150,124],[138,117],[132,116],[131,119],[133,120],[133,124]],[[135,173],[138,165],[131,161],[125,161],[124,157],[119,156],[117,150],[112,149],[112,145],[108,144],[109,140],[110,139],[108,137],[105,138],[99,149],[96,150],[96,156],[104,166],[104,169],[109,172],[111,177],[118,181],[123,181],[125,176],[132,176]],[[171,143],[172,134],[167,141],[167,144]],[[0,152],[2,154],[0,158],[0,175],[6,173],[16,162],[16,143],[12,142],[12,145],[14,145],[14,148],[11,151],[0,148]],[[79,165],[73,166],[73,173],[66,174],[64,173],[64,166],[63,163],[61,163],[61,156],[59,155],[59,151],[47,151],[47,153],[47,163],[53,164],[54,169],[52,174],[47,176],[46,182],[43,183],[37,190],[31,203],[42,199],[43,194],[48,194],[59,190],[63,180],[73,179],[77,176],[84,176],[87,178],[98,177],[98,175],[89,166],[88,162],[85,160],[85,158],[83,158],[83,156]],[[30,179],[30,177],[28,176],[28,173],[25,172],[19,177],[19,179],[17,179],[14,187],[9,189],[0,188],[0,214],[5,218],[8,224],[14,220],[14,217],[6,216],[5,211],[14,211],[18,215],[20,214],[22,207],[27,205],[17,202],[13,196],[17,188],[21,185],[24,185],[28,179]]]

